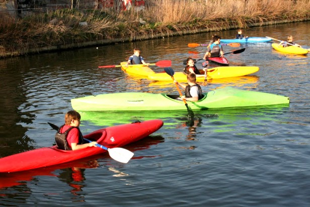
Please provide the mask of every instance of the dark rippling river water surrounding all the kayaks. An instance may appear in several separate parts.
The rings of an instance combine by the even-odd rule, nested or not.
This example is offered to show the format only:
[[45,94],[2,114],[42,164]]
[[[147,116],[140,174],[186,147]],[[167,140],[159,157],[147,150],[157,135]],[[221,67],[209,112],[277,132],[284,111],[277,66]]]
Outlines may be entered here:
[[[285,39],[293,32],[296,42],[308,48],[309,24],[251,27],[244,33]],[[220,31],[218,35],[228,39],[235,33]],[[203,44],[212,34],[0,59],[0,157],[51,146],[54,131],[47,122],[62,124],[64,114],[71,110],[72,98],[136,91],[178,94],[172,81],[153,82],[127,75],[120,68],[98,66],[126,61],[132,49],[138,47],[146,62],[172,60],[174,70],[182,71],[184,59],[202,58],[206,50],[189,48],[187,44]],[[309,186],[310,172],[306,164],[309,54],[282,54],[274,51],[270,43],[223,49],[229,52],[244,47],[246,50],[240,54],[225,55],[230,65],[258,66],[260,70],[254,76],[209,80],[206,86],[200,83],[202,90],[232,86],[285,95],[290,98],[289,107],[195,111],[193,119],[188,119],[186,111],[82,113],[83,133],[153,118],[163,119],[164,126],[154,136],[126,146],[136,150],[126,165],[102,154],[81,161],[84,167],[79,161],[1,174],[0,205],[79,205],[75,201],[86,201],[82,203],[94,206],[307,206],[309,193],[304,186]],[[156,73],[163,71],[160,67],[152,69]],[[88,163],[92,161],[99,166]],[[122,182],[123,178],[126,182]]]

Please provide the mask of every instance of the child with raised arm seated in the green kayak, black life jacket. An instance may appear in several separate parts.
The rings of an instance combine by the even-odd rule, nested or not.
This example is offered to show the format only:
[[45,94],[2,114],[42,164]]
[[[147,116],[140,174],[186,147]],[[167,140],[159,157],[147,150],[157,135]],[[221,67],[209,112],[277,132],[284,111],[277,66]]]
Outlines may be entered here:
[[178,83],[176,80],[174,82],[185,89],[185,96],[181,97],[182,100],[198,101],[204,97],[200,85],[196,83],[196,74],[191,73],[187,75],[187,86]]

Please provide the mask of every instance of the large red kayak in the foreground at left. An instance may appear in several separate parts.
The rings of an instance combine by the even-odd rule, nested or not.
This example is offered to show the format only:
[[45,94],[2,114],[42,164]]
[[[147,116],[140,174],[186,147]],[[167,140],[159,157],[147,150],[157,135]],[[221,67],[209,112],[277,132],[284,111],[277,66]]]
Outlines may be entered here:
[[[98,144],[109,148],[109,150],[113,148],[117,149],[118,147],[143,139],[160,129],[163,124],[163,121],[160,119],[122,124],[93,131],[84,135],[84,138],[90,141],[96,141]],[[1,158],[0,173],[17,172],[61,164],[105,152],[107,150],[100,147],[75,151],[59,150],[56,146],[44,147]]]

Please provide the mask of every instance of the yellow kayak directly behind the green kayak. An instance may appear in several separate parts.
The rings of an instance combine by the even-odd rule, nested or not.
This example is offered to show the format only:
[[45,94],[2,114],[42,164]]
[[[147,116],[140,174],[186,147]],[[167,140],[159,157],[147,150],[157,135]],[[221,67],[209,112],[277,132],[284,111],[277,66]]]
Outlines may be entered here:
[[[259,71],[257,66],[222,66],[213,67],[207,70],[207,79],[222,79],[231,77],[240,77],[253,74]],[[174,79],[177,81],[186,81],[186,74],[183,72],[176,72]],[[148,79],[155,81],[171,81],[171,77],[166,73],[152,73],[148,75]],[[197,77],[197,81],[204,81],[204,77]]]

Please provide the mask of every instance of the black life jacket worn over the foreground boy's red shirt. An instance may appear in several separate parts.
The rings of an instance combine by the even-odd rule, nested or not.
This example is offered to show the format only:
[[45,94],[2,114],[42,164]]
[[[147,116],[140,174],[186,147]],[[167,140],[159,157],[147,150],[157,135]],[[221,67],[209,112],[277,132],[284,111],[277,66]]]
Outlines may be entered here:
[[60,130],[63,126],[64,125],[60,126],[55,134],[55,142],[59,150],[72,150],[67,142],[68,133],[72,128],[77,128],[80,132],[78,145],[84,144],[82,132],[78,127],[71,126],[67,130],[65,130],[65,132],[60,133]]

